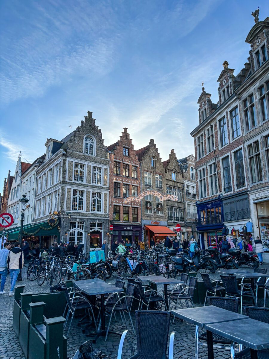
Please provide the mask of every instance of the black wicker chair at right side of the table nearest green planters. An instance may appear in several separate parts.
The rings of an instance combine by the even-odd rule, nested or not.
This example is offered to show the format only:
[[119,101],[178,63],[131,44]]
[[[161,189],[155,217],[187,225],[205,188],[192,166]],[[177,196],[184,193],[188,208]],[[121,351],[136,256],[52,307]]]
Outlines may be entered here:
[[[133,299],[136,299],[133,296],[134,292],[135,292],[135,284],[128,283],[127,287],[126,287],[126,293],[117,292],[119,298],[116,300],[116,302],[114,304],[110,304],[110,296],[112,297],[113,294],[115,294],[115,293],[110,294],[107,297],[107,299],[105,300],[105,312],[110,317],[109,322],[108,322],[108,327],[107,327],[107,333],[105,335],[105,341],[107,340],[110,323],[111,323],[111,320],[112,320],[112,316],[113,316],[113,314],[115,312],[119,312],[120,315],[123,314],[125,325],[126,325],[127,329],[128,329],[128,326],[127,326],[126,317],[125,317],[124,313],[128,313],[128,316],[130,318],[131,325],[132,325],[132,328],[133,328],[133,332],[135,333],[135,328],[133,326],[133,321],[132,321],[131,314],[130,314]],[[122,324],[124,325],[122,316],[121,316],[121,320],[122,320]],[[100,327],[100,325],[101,325],[101,321],[99,322],[99,327]]]

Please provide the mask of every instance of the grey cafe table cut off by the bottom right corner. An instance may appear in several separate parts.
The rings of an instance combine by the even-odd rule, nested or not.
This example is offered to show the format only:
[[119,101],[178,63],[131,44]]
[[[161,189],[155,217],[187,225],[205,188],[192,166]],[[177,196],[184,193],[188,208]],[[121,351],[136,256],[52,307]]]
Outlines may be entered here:
[[207,331],[208,359],[214,359],[212,333],[250,348],[251,359],[258,359],[256,350],[269,348],[269,324],[255,319],[212,323],[205,325],[205,329]]

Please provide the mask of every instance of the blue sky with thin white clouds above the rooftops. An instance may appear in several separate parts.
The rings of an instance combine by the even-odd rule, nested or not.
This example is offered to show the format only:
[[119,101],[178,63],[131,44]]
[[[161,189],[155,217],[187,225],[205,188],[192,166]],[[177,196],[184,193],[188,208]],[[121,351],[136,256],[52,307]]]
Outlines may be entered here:
[[105,145],[123,127],[163,160],[194,153],[201,83],[217,102],[224,60],[237,74],[268,1],[2,0],[0,192],[20,148],[32,162],[93,112]]

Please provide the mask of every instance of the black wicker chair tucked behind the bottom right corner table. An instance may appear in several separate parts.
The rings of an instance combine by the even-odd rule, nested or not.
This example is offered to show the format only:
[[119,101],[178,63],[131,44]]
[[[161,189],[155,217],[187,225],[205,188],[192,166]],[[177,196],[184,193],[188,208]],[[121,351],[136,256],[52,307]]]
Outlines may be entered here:
[[[264,307],[243,307],[244,314],[251,319],[258,320],[260,322],[269,323],[269,308]],[[250,359],[249,348],[243,349],[235,355],[235,359]],[[258,350],[258,359],[268,359],[269,349]]]

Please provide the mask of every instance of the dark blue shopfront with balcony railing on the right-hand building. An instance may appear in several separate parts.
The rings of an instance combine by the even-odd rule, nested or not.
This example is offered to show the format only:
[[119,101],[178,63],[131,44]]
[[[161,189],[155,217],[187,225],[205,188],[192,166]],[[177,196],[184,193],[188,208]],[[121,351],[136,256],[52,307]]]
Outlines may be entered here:
[[201,248],[217,244],[222,235],[223,208],[221,196],[203,202],[196,202],[197,215],[196,228],[199,233]]

